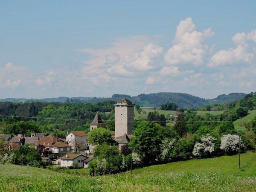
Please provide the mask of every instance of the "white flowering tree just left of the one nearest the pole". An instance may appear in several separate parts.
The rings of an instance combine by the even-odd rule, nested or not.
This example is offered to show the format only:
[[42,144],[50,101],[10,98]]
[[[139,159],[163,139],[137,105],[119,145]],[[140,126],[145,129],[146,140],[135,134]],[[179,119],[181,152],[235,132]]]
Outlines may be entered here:
[[192,155],[196,158],[210,156],[214,151],[215,140],[216,139],[212,136],[201,137],[200,142],[194,145]]

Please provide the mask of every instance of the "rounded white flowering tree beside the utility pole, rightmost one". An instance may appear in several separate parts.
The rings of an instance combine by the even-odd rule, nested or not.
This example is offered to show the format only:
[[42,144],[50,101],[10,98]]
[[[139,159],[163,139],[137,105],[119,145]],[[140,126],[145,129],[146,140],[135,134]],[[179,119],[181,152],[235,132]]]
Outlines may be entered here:
[[[243,142],[240,140],[240,147],[244,148]],[[226,154],[234,154],[239,149],[239,136],[238,135],[223,135],[221,137],[220,149]]]

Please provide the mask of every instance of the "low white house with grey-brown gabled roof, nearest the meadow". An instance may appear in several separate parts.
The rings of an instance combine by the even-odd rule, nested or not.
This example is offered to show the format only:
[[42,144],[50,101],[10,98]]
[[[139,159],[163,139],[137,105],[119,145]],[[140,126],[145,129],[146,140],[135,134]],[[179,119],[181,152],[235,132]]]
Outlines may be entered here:
[[74,154],[74,153],[67,153],[66,155],[61,157],[61,166],[62,167],[70,167],[73,166],[73,163],[77,163],[78,168],[84,167],[84,160],[86,157],[83,154]]

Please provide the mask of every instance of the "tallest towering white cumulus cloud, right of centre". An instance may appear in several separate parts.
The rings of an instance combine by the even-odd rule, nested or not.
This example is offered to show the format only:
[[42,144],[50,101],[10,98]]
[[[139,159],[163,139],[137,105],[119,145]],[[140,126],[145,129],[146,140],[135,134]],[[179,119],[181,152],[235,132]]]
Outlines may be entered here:
[[204,56],[207,54],[207,45],[203,44],[203,41],[212,37],[214,32],[210,28],[205,29],[204,32],[198,32],[195,29],[192,18],[180,21],[173,46],[164,56],[166,63],[194,64],[195,66],[203,64]]

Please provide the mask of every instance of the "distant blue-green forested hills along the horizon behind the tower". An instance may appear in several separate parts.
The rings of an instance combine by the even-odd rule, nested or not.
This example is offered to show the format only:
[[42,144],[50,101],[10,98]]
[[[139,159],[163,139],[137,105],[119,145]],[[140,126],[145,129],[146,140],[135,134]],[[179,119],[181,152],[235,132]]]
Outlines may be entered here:
[[204,105],[222,104],[233,101],[238,101],[243,98],[245,93],[230,93],[228,95],[220,95],[214,99],[203,99],[197,96],[192,96],[186,93],[150,93],[140,94],[138,96],[130,96],[123,94],[113,94],[112,97],[58,97],[46,99],[0,99],[1,101],[10,102],[66,102],[66,103],[98,103],[104,101],[119,101],[122,98],[131,100],[134,104],[139,104],[141,107],[157,107],[167,102],[176,103],[178,108],[198,108]]

